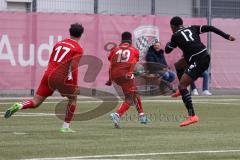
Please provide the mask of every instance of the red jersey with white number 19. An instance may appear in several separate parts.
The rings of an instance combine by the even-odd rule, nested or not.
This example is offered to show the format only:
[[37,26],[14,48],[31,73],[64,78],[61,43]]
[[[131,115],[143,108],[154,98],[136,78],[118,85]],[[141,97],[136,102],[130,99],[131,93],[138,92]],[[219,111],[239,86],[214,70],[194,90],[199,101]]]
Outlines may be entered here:
[[135,64],[139,61],[139,51],[131,44],[122,43],[111,50],[108,60],[111,63],[111,79],[125,77],[127,73],[133,72]]

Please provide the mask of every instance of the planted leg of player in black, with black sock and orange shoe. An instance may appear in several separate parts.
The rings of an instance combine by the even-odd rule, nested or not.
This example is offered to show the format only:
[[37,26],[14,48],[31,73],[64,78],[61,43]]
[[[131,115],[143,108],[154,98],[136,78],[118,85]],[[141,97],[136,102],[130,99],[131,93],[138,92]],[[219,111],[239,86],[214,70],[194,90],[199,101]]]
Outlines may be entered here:
[[192,78],[184,73],[179,84],[179,91],[182,95],[183,103],[185,104],[185,107],[188,111],[188,117],[187,120],[182,122],[180,124],[181,127],[187,126],[193,123],[198,122],[198,117],[195,115],[193,104],[192,104],[192,98],[190,92],[187,90],[187,87],[191,84]]

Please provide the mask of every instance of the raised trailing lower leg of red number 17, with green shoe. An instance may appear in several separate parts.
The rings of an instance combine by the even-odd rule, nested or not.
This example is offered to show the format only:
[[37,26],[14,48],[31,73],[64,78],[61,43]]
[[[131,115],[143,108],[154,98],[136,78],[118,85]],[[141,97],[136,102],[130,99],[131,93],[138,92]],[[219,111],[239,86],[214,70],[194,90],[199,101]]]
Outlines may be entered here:
[[32,100],[26,100],[20,103],[14,103],[8,110],[6,111],[4,117],[9,118],[11,117],[14,113],[16,113],[18,110],[21,109],[28,109],[28,108],[36,108],[38,107],[46,97],[42,97],[39,95],[35,95]]

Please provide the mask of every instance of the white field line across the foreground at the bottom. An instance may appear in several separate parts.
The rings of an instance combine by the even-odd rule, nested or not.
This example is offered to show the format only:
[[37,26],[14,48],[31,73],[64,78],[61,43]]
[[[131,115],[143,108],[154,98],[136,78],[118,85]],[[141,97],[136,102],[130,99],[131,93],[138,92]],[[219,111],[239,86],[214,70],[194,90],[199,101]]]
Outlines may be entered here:
[[159,152],[159,153],[136,153],[136,154],[112,154],[112,155],[92,155],[78,157],[56,157],[56,158],[33,158],[25,160],[74,160],[88,158],[118,158],[118,157],[137,157],[137,156],[157,156],[157,155],[181,155],[181,154],[216,154],[216,153],[235,153],[240,150],[213,150],[213,151],[186,151],[186,152]]

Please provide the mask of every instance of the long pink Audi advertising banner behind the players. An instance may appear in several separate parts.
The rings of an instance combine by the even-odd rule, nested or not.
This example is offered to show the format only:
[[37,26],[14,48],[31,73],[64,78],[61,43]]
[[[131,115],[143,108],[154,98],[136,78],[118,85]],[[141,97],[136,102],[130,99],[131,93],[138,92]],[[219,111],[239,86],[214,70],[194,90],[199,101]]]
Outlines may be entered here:
[[[96,80],[92,82],[86,82],[83,78],[88,67],[85,65],[80,67],[79,84],[92,88],[104,88],[104,83],[108,79],[109,66],[104,46],[109,42],[119,43],[120,34],[123,31],[134,33],[139,27],[155,27],[164,47],[172,34],[169,27],[170,18],[0,12],[0,89],[37,88],[47,67],[53,45],[68,37],[68,28],[75,22],[82,23],[85,28],[80,42],[84,48],[84,54],[95,56],[103,63]],[[233,27],[224,26],[227,24],[225,21],[227,20],[216,19],[214,24],[230,34],[236,33],[240,22],[229,20]],[[206,24],[206,19],[185,18],[184,22],[186,25],[201,25]],[[203,35],[202,40],[206,44],[206,34]],[[211,87],[240,87],[240,71],[238,71],[237,58],[234,58],[237,56],[237,49],[236,43],[230,44],[219,37],[213,37]],[[173,70],[173,63],[181,55],[179,49],[166,55]]]

